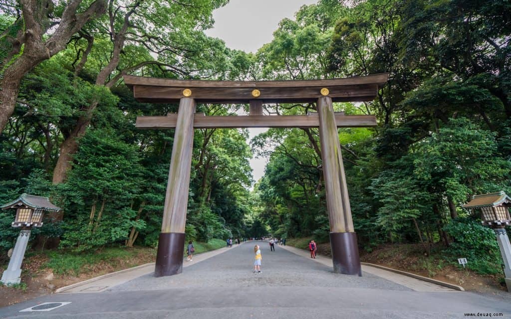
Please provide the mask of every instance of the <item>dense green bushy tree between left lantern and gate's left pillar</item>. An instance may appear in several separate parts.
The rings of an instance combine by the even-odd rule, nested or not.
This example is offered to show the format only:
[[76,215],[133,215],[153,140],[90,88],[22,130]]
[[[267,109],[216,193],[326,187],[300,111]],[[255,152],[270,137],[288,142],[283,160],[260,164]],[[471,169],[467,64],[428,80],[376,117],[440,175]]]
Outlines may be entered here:
[[[68,182],[62,186],[62,203],[69,210],[63,246],[90,249],[124,241],[134,221],[131,204],[140,192],[143,167],[131,145],[107,131],[91,131],[81,141]],[[111,136],[111,135],[110,135]]]

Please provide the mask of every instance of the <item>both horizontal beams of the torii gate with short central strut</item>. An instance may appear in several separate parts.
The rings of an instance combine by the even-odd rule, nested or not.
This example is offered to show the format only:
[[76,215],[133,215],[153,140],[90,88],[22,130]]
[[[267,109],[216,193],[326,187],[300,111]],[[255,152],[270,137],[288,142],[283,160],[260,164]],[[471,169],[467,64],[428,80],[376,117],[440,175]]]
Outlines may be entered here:
[[[263,103],[314,103],[322,96],[333,102],[363,102],[375,99],[388,73],[328,80],[296,81],[205,81],[175,80],[124,76],[137,101],[176,103],[183,98],[196,103],[250,104],[249,116],[204,116],[196,114],[195,128],[290,128],[318,127],[317,113],[308,115],[268,116],[262,114]],[[335,115],[337,127],[373,127],[374,115]],[[140,129],[172,129],[177,114],[138,116]]]

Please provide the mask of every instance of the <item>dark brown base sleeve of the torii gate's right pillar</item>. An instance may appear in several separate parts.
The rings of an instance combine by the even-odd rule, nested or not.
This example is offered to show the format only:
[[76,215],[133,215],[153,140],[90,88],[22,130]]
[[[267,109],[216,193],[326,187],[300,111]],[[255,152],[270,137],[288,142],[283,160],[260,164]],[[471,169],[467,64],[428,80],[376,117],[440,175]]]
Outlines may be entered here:
[[362,276],[355,233],[330,233],[334,273]]

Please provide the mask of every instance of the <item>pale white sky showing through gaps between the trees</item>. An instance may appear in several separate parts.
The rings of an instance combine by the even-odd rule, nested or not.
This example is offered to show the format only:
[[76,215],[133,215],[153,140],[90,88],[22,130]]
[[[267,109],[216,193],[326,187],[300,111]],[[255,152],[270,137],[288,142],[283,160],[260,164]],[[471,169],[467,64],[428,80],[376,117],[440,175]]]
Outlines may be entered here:
[[[278,22],[286,17],[294,19],[301,6],[315,3],[317,0],[230,0],[213,12],[215,26],[206,35],[224,40],[227,47],[257,52],[263,44],[271,42]],[[249,138],[265,131],[249,129]],[[266,162],[266,158],[250,160],[255,181],[264,175]]]

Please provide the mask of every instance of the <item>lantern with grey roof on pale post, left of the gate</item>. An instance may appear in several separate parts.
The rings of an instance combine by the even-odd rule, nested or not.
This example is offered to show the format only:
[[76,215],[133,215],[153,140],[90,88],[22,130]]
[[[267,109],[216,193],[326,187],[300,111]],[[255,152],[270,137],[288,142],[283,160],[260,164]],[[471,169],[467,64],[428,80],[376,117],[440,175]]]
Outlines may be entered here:
[[50,203],[47,197],[22,194],[17,200],[0,206],[2,209],[16,209],[16,218],[12,227],[20,227],[16,246],[9,261],[7,270],[2,275],[4,284],[17,284],[21,281],[21,263],[27,250],[32,227],[42,226],[45,211],[58,212],[60,208]]

